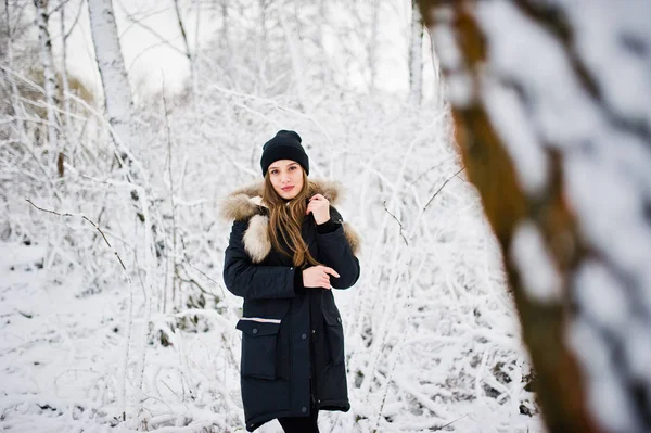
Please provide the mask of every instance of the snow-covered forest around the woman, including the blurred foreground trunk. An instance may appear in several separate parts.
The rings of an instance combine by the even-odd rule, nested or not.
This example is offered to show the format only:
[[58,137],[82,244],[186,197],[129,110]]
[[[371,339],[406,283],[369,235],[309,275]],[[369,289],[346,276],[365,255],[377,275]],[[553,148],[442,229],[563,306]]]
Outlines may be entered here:
[[651,2],[0,10],[2,431],[244,431],[220,204],[279,129],[362,241],[321,431],[651,431]]

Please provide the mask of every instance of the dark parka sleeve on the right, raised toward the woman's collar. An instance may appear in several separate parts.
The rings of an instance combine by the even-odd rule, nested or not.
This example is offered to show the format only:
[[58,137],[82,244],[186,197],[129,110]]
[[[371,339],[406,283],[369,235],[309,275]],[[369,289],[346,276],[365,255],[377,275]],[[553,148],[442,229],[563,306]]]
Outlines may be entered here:
[[[359,259],[353,254],[344,233],[344,220],[333,206],[330,206],[330,219],[334,222],[332,231],[317,230],[319,262],[340,275],[340,278],[330,276],[330,284],[334,289],[348,289],[359,279]],[[330,221],[324,222],[323,226],[328,224]]]

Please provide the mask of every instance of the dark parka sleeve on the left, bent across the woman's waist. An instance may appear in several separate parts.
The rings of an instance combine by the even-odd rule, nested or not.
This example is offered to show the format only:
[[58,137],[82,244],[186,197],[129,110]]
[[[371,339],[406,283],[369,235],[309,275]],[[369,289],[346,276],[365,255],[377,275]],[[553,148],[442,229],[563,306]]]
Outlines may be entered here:
[[233,222],[224,259],[226,288],[232,294],[247,300],[294,297],[294,284],[298,281],[296,269],[289,266],[254,265],[242,242],[247,227],[246,220]]

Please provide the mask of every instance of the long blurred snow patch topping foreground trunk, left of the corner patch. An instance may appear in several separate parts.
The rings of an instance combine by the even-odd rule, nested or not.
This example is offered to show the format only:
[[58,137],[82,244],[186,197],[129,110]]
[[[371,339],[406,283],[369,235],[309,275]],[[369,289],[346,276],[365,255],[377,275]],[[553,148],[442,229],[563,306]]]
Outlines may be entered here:
[[477,2],[476,12],[488,41],[487,71],[523,86],[529,119],[541,138],[575,145],[600,129],[603,120],[558,40],[510,2]]

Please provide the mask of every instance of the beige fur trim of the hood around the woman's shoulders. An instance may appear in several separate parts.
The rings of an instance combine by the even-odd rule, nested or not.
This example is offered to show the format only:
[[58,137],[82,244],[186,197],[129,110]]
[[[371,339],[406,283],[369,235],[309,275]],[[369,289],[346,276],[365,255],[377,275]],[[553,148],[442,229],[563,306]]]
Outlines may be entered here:
[[[308,179],[314,184],[314,194],[319,193],[335,206],[341,202],[343,186],[340,182],[328,179]],[[263,204],[264,180],[247,184],[231,192],[222,200],[220,216],[229,221],[250,219],[248,227],[244,231],[244,250],[251,256],[253,263],[260,263],[271,251],[271,240],[267,226],[269,217],[266,206]],[[360,239],[348,222],[341,222],[344,234],[350,244],[353,254],[357,255],[360,247]]]

